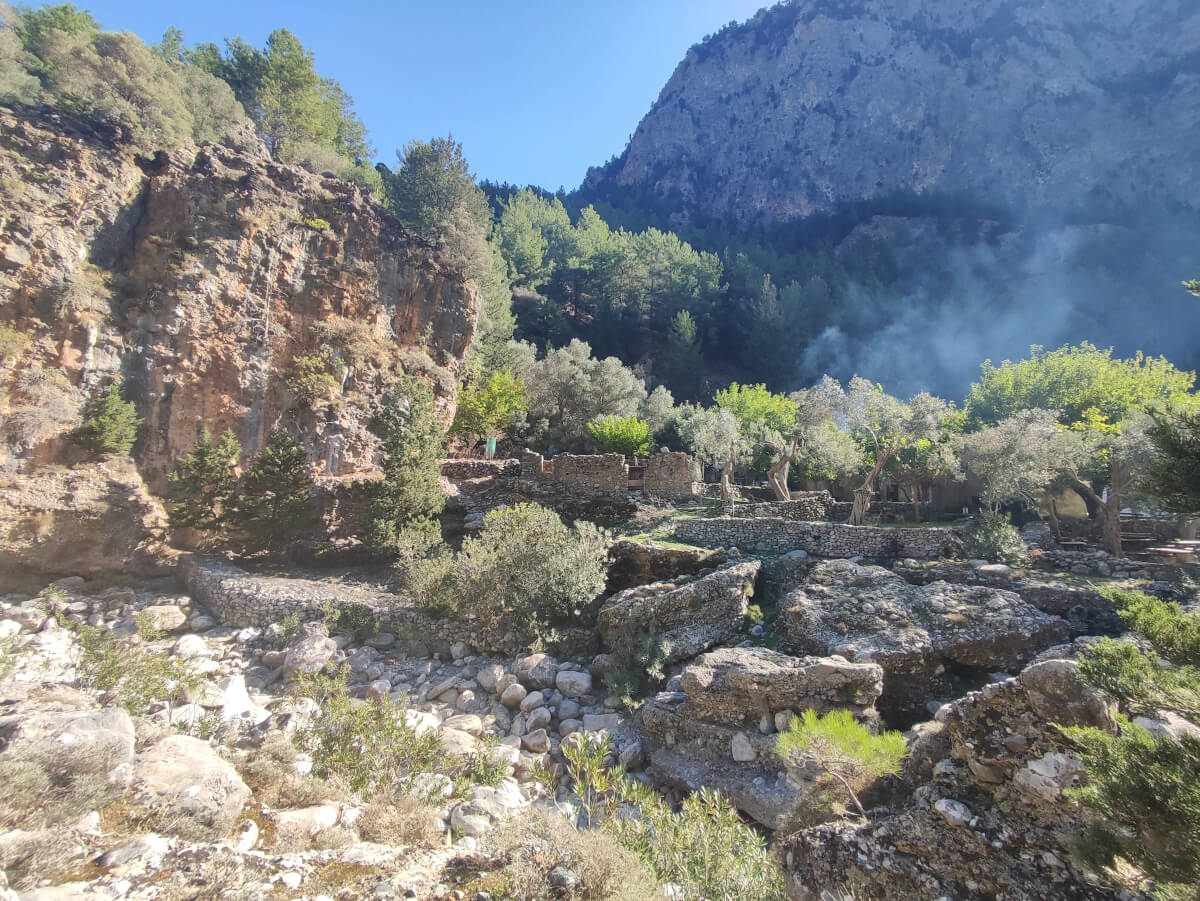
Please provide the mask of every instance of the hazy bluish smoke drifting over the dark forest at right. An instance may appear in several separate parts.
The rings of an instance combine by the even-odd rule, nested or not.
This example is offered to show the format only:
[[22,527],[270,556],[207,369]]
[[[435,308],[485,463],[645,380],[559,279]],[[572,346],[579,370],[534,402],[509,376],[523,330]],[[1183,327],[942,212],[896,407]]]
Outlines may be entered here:
[[1200,365],[1200,301],[1180,286],[1200,275],[1194,220],[1024,228],[995,245],[910,246],[898,259],[910,290],[881,304],[852,289],[842,322],[877,325],[857,336],[827,328],[803,354],[800,382],[859,374],[895,395],[959,400],[985,359],[1080,341]]

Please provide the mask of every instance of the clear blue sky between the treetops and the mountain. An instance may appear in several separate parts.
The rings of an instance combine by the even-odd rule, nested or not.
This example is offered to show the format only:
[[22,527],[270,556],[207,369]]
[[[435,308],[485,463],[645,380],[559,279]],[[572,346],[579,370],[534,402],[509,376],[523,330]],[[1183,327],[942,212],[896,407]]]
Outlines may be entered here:
[[[377,155],[452,132],[480,178],[574,188],[619,154],[688,48],[763,0],[74,0],[154,43],[287,28],[354,97]],[[40,5],[40,4],[35,4]]]

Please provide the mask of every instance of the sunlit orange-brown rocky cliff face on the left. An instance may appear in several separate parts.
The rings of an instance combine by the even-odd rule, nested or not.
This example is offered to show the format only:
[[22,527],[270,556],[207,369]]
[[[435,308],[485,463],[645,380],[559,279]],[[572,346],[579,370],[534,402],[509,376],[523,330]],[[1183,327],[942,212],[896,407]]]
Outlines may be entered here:
[[348,182],[220,145],[134,158],[94,125],[0,110],[0,208],[10,470],[72,462],[65,437],[118,376],[156,491],[202,430],[253,453],[287,425],[318,471],[367,470],[402,372],[454,415],[478,293]]

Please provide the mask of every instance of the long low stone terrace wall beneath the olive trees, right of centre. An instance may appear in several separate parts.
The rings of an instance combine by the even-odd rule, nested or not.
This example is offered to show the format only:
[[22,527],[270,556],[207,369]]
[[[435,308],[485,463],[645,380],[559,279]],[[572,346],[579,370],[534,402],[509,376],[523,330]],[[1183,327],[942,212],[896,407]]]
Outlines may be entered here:
[[962,548],[960,529],[880,529],[842,523],[762,519],[682,519],[674,536],[706,547],[743,551],[808,551],[818,557],[930,559],[955,557]]

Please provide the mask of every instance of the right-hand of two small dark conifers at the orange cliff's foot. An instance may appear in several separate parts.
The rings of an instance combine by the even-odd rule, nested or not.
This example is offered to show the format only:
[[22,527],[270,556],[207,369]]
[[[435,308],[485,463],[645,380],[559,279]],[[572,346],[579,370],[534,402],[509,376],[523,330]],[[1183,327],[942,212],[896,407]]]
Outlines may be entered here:
[[257,547],[281,547],[313,517],[308,455],[287,430],[266,439],[238,482],[230,519]]

